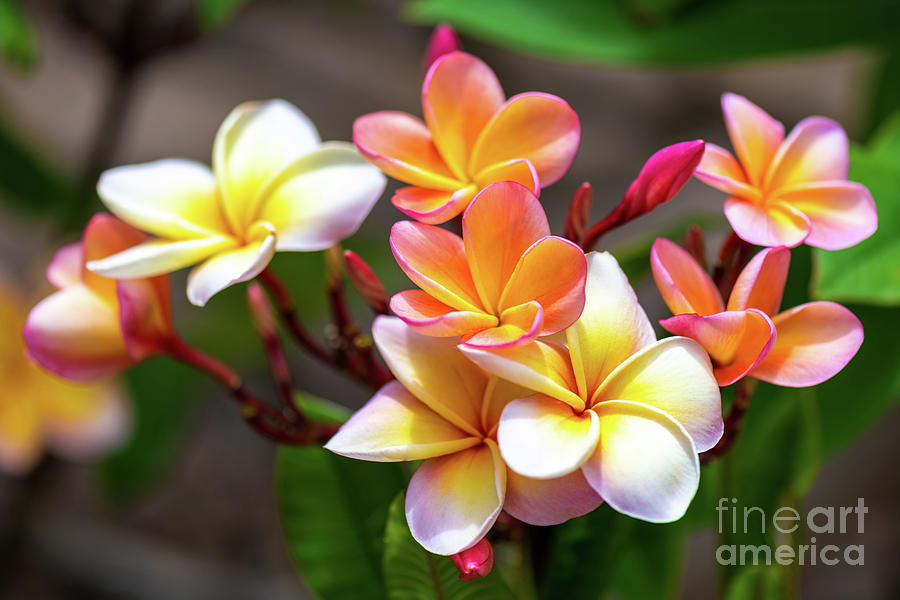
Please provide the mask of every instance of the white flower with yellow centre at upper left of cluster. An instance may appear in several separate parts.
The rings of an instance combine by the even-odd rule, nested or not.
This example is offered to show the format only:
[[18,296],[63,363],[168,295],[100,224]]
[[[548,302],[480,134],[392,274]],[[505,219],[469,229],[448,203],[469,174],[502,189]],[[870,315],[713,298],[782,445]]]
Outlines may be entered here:
[[219,128],[212,170],[167,159],[101,176],[97,191],[106,207],[157,237],[88,266],[134,278],[200,263],[187,295],[203,306],[256,277],[276,251],[323,250],[352,235],[384,186],[384,176],[352,145],[323,144],[293,105],[248,102]]

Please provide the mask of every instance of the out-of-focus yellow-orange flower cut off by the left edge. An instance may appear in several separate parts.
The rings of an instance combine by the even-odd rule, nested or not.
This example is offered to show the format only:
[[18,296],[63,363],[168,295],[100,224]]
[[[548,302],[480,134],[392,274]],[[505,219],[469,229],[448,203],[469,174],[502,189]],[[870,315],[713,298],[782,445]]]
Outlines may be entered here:
[[[89,460],[116,447],[130,431],[128,399],[109,382],[73,384],[26,360],[21,331],[25,307],[0,286],[0,470],[30,471],[45,449]],[[69,318],[75,318],[71,315]]]

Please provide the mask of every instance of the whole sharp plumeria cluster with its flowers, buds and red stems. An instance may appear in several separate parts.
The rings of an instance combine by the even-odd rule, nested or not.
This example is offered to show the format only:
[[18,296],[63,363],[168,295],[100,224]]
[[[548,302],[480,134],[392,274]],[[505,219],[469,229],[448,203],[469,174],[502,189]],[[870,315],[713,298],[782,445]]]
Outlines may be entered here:
[[[680,518],[697,491],[701,454],[725,440],[720,386],[745,376],[814,385],[862,343],[859,321],[834,303],[779,312],[789,247],[847,247],[875,229],[868,191],[846,181],[846,136],[814,117],[785,139],[761,109],[726,94],[738,159],[701,140],[667,147],[592,227],[583,187],[566,239],[551,235],[538,195],[575,155],[574,111],[545,93],[507,100],[452,31],[435,37],[427,63],[424,122],[391,111],[360,117],[355,147],[322,144],[298,109],[276,100],[241,105],[225,119],[212,170],[163,160],[104,173],[98,191],[118,219],[95,217],[82,243],[54,258],[48,277],[59,290],[25,327],[31,358],[87,380],[166,353],[226,385],[272,439],[330,437],[325,448],[344,456],[422,461],[406,494],[410,530],[427,550],[453,555],[465,579],[490,570],[485,536],[502,511],[550,525],[605,502],[646,521]],[[701,266],[699,232],[690,252],[654,244],[653,275],[675,315],[661,321],[675,336],[657,340],[616,259],[590,249],[671,200],[695,168],[730,195],[734,233],[713,278]],[[372,338],[390,373],[343,304],[340,253],[328,254],[333,347],[302,328],[266,268],[278,250],[333,248],[354,233],[385,175],[409,184],[393,203],[415,220],[394,224],[390,248],[416,289],[388,302],[359,256],[345,260],[381,313]],[[438,226],[456,217],[462,235]],[[765,248],[747,262],[751,244]],[[251,311],[265,330],[283,410],[187,346],[170,316],[167,274],[197,264],[187,283],[192,303],[258,278],[293,336],[377,388],[371,400],[333,437],[313,428],[292,404],[271,307],[255,283]]]

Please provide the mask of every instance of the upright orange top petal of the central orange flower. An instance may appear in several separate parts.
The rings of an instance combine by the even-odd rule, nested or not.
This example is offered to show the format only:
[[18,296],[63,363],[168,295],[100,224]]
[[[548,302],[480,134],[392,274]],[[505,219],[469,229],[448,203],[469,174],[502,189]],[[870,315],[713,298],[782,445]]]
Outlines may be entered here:
[[463,240],[472,279],[488,312],[497,309],[522,254],[549,235],[547,215],[527,188],[495,183],[475,196],[463,215]]

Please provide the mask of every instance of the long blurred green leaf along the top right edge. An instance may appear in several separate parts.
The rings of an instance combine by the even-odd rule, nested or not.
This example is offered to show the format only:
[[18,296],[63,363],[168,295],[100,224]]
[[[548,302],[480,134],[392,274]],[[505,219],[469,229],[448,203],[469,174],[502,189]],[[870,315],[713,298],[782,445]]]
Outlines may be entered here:
[[[448,22],[482,40],[557,60],[712,65],[891,42],[897,36],[900,3],[416,0],[404,14],[420,23]],[[665,18],[647,18],[648,14]]]

